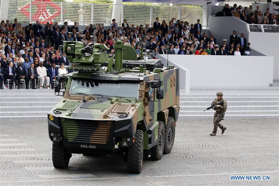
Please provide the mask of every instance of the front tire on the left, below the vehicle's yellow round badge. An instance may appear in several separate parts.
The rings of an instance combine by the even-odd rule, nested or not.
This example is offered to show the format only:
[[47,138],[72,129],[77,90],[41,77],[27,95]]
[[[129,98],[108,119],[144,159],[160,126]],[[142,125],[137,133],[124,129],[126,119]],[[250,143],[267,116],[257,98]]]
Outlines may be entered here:
[[67,149],[60,143],[52,142],[52,163],[57,169],[65,169],[69,165],[72,154],[68,153]]

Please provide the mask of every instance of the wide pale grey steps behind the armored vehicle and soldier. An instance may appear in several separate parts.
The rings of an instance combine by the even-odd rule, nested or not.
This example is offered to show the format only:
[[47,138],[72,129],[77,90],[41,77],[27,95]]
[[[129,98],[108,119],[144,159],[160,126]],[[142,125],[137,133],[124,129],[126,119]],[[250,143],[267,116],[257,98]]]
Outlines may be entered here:
[[[226,119],[279,118],[276,87],[191,88],[180,91],[179,119],[213,119],[214,110],[204,111],[222,90],[227,100]],[[5,89],[0,91],[1,120],[46,119],[47,112],[63,99],[47,89]]]

